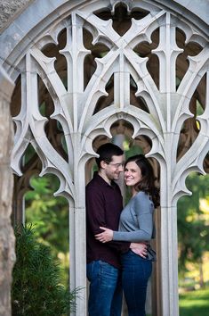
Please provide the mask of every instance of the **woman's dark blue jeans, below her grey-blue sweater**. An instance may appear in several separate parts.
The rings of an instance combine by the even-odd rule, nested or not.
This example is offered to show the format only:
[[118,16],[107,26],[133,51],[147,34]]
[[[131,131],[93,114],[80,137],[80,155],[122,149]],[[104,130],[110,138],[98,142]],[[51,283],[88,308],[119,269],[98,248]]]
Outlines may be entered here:
[[131,250],[122,254],[122,285],[129,316],[145,316],[145,302],[152,262]]

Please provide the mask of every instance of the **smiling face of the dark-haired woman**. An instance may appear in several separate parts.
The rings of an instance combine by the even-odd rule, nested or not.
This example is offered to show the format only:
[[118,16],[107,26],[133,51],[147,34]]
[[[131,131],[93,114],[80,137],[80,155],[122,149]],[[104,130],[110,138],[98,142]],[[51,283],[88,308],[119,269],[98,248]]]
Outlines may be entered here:
[[125,166],[125,184],[133,187],[141,181],[141,169],[136,162],[128,162]]

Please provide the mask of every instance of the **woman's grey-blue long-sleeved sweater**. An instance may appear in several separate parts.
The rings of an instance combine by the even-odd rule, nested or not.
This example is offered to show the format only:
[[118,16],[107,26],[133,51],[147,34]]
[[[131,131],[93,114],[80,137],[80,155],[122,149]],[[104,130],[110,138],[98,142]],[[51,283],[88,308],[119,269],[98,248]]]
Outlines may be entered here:
[[114,231],[113,240],[141,242],[143,240],[150,240],[153,230],[153,212],[150,208],[149,198],[142,195],[134,197],[134,212],[136,214],[136,222],[133,222],[131,212],[128,212],[126,221],[128,229],[124,231]]

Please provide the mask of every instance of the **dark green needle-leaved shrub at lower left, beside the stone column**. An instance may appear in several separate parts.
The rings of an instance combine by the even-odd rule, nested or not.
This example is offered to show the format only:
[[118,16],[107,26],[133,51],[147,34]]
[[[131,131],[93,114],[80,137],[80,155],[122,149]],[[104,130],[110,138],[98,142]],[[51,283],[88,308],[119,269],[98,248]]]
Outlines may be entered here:
[[60,267],[49,246],[36,241],[34,229],[15,229],[16,263],[12,272],[12,315],[59,316],[75,310],[77,290],[60,284]]

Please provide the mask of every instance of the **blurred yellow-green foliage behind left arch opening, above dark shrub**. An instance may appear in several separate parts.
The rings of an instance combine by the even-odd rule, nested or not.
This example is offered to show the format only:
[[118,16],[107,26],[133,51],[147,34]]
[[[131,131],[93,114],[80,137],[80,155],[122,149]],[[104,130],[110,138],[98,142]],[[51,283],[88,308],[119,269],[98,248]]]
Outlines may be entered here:
[[65,258],[61,262],[62,279],[68,284],[68,201],[64,197],[55,197],[53,193],[60,186],[59,179],[52,174],[30,181],[34,190],[25,195],[26,222],[36,227],[36,239],[50,245],[52,255]]

